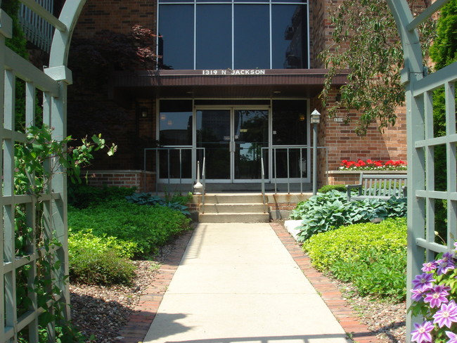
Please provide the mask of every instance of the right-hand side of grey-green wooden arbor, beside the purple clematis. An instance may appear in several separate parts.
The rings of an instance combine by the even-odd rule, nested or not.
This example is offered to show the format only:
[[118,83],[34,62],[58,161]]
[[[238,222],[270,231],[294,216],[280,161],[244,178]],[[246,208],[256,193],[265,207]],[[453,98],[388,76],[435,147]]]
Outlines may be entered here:
[[[435,259],[439,252],[453,248],[457,240],[457,163],[456,163],[456,92],[457,63],[427,75],[416,28],[439,11],[449,0],[437,0],[426,11],[413,18],[405,0],[387,0],[397,22],[404,50],[402,81],[406,86],[408,143],[408,269],[407,289],[414,276],[422,273],[424,261]],[[446,96],[446,136],[433,132],[433,91],[444,88]],[[446,191],[435,190],[435,148],[446,148]],[[447,202],[447,246],[435,242],[435,200]],[[411,304],[407,295],[407,306]],[[407,331],[413,321],[406,318]],[[410,335],[407,334],[410,342]]]

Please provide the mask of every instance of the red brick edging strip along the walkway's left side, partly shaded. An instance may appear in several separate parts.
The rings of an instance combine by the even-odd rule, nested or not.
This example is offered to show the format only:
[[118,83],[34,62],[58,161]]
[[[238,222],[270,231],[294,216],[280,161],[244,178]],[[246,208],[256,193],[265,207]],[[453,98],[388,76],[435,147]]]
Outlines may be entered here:
[[163,296],[172,281],[174,272],[179,266],[186,251],[188,242],[191,240],[193,230],[184,233],[174,242],[172,252],[162,262],[159,270],[154,276],[153,283],[143,291],[139,303],[131,313],[129,321],[120,332],[120,342],[139,343],[143,342],[148,333],[149,327],[157,314]]

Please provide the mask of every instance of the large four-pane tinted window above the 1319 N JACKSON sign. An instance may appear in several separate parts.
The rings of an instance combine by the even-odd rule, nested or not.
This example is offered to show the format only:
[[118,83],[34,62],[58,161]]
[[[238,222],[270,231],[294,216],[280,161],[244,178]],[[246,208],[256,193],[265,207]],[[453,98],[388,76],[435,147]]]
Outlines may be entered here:
[[303,1],[185,2],[159,0],[162,37],[157,50],[163,69],[308,67],[308,8]]

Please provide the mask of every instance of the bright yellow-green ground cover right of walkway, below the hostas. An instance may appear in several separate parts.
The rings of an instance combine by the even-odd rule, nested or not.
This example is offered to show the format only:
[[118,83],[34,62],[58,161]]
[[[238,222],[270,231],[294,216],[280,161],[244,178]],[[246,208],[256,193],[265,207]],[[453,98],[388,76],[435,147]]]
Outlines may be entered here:
[[406,297],[406,219],[342,226],[318,233],[303,250],[320,271],[351,282],[360,295]]

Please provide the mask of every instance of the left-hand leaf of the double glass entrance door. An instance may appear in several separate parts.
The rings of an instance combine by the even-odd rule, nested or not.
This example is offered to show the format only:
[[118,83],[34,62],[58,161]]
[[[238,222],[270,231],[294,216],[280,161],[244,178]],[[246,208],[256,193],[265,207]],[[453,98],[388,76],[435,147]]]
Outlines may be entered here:
[[[230,110],[198,110],[197,148],[205,148],[206,179],[231,179]],[[198,156],[198,160],[202,160]]]

